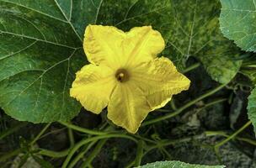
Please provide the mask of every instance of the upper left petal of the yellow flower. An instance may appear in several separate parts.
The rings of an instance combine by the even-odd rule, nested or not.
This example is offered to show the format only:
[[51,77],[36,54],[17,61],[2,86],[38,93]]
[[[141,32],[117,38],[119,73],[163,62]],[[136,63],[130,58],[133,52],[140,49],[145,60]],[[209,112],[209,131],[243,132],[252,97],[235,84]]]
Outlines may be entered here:
[[122,61],[124,38],[125,33],[115,27],[88,25],[83,40],[88,61],[95,65],[117,66]]

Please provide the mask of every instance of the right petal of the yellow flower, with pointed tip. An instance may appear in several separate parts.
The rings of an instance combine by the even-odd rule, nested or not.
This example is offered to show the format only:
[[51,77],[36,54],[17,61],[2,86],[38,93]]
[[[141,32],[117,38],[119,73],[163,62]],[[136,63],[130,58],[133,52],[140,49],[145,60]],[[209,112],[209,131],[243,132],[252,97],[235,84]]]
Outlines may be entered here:
[[131,72],[131,80],[144,92],[152,110],[162,108],[173,94],[187,90],[190,84],[173,62],[164,57],[137,66]]

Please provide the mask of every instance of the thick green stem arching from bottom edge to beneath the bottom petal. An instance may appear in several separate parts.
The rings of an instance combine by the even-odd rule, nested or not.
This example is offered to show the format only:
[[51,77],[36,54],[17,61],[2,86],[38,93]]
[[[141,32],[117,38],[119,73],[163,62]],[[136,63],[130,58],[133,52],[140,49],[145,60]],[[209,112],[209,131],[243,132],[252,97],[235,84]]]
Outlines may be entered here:
[[67,155],[66,160],[64,161],[63,165],[61,166],[62,168],[66,168],[67,164],[69,163],[69,161],[72,159],[72,155],[74,155],[76,153],[76,151],[83,146],[84,144],[88,144],[89,142],[92,141],[96,141],[99,139],[109,139],[109,138],[124,138],[124,139],[131,139],[134,142],[137,143],[137,140],[134,139],[133,137],[126,135],[126,134],[104,134],[104,135],[99,135],[96,137],[92,137],[92,138],[88,138],[88,139],[83,139],[80,142],[78,142],[77,144],[74,145],[74,147],[72,148],[72,150],[70,150],[69,155]]

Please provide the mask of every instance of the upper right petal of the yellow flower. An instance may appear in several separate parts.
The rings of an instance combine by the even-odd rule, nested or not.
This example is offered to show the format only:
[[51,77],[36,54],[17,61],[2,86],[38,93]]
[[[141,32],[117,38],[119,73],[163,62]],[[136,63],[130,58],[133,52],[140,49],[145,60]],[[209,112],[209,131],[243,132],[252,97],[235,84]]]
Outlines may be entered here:
[[126,34],[124,45],[129,65],[152,60],[165,47],[162,35],[151,26],[136,27]]

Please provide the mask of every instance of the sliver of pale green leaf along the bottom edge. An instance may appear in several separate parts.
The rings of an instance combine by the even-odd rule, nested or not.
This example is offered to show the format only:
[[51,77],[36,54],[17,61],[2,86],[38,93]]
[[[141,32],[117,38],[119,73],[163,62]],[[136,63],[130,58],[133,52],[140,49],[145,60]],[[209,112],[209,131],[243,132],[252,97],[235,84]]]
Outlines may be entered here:
[[139,166],[138,168],[224,168],[225,165],[194,165],[181,161],[157,161],[147,165]]

